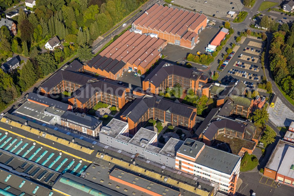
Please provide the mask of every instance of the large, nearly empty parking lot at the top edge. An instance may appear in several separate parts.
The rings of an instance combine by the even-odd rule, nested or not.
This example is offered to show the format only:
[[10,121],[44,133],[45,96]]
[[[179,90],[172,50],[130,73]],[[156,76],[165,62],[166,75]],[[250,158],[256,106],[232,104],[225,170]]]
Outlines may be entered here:
[[174,4],[194,11],[202,11],[203,14],[218,18],[225,18],[229,11],[239,12],[243,8],[240,0],[173,0]]

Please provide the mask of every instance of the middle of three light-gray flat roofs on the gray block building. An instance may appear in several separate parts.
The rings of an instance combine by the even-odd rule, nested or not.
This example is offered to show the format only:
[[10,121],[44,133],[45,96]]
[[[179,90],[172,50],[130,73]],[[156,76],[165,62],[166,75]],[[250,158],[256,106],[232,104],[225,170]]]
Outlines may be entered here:
[[157,135],[156,132],[142,127],[129,142],[137,146],[142,146],[140,143],[144,143],[146,146],[155,135]]

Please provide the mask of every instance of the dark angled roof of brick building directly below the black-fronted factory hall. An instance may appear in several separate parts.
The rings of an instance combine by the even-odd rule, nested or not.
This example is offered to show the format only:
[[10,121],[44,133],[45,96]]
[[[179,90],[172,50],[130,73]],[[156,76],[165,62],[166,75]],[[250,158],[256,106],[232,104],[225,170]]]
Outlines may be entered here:
[[96,92],[106,92],[117,97],[121,97],[127,87],[105,80],[87,83],[72,95],[81,103],[86,103]]

